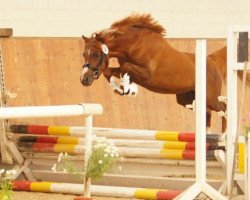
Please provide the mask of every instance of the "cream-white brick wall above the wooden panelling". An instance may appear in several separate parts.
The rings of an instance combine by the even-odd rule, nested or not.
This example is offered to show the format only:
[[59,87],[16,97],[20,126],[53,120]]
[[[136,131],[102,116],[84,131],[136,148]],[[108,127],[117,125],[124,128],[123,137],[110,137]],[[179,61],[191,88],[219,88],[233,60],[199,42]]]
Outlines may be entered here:
[[250,24],[249,0],[0,0],[0,27],[14,36],[80,37],[132,12],[151,13],[173,38],[224,38],[228,24]]

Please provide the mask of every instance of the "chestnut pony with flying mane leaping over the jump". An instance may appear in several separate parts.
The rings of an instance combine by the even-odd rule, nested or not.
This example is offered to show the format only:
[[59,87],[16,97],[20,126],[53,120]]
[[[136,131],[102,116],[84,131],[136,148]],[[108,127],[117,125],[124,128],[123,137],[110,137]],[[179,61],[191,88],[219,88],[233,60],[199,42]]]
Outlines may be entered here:
[[[153,92],[176,94],[180,105],[192,104],[195,55],[174,49],[164,35],[165,29],[151,15],[131,15],[90,38],[82,36],[86,45],[81,83],[90,86],[102,73],[109,82],[127,74],[130,82]],[[108,67],[111,57],[118,59],[119,68]],[[225,75],[226,47],[207,56],[207,127],[211,111],[226,110],[225,103],[218,101]]]

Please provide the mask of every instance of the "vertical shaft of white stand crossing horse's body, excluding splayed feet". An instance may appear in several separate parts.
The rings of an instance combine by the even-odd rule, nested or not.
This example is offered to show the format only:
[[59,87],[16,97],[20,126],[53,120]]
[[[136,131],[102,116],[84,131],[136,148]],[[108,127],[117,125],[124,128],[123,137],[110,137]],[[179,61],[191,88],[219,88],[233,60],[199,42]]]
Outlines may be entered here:
[[197,40],[195,62],[199,83],[195,85],[195,166],[197,183],[202,187],[206,183],[206,40]]

